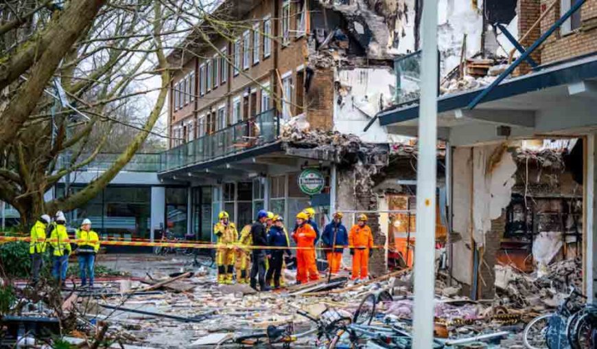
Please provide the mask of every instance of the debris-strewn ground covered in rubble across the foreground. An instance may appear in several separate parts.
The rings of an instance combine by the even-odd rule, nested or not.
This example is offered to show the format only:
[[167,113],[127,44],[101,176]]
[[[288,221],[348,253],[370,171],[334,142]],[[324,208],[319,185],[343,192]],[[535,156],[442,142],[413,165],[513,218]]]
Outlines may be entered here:
[[[257,293],[244,284],[218,285],[209,260],[200,260],[204,265],[193,266],[187,256],[107,255],[101,256],[100,264],[125,271],[128,276],[100,278],[92,290],[72,289],[69,282],[59,297],[62,341],[79,348],[98,348],[100,343],[108,348],[242,348],[256,344],[282,347],[284,343],[268,344],[267,338],[252,338],[269,333],[272,341],[281,340],[273,339],[272,331],[276,330],[306,333],[286,343],[291,348],[329,348],[325,336],[309,332],[309,328],[316,328],[316,323],[300,315],[303,311],[319,319],[320,324],[353,319],[369,330],[374,328],[376,335],[383,336],[382,326],[387,330],[388,325],[410,331],[412,280],[408,269],[361,285],[347,283],[348,271],[344,269],[329,286],[323,280],[288,286],[283,291]],[[469,348],[469,344],[475,344],[474,348],[522,348],[524,324],[557,306],[565,284],[578,284],[578,270],[574,261],[563,261],[550,267],[548,275],[535,279],[504,267],[498,269],[498,296],[478,302],[457,297],[458,286],[448,286],[449,282],[439,273],[436,337],[448,341],[445,348]],[[286,271],[285,276],[288,284],[294,284],[294,271]],[[20,300],[15,308],[20,310],[14,315],[21,317],[21,325],[11,344],[10,328],[18,321],[10,322],[9,317],[4,317],[0,346],[20,341],[30,348],[53,348],[58,333],[39,335],[47,338],[44,344],[35,341],[33,326],[23,325],[33,321],[38,333],[40,328],[51,330],[49,324],[57,317],[56,306],[49,305],[51,297],[33,297],[24,282],[17,282],[16,286]],[[367,326],[369,321],[373,327]],[[487,335],[489,341],[478,340],[480,335]],[[373,340],[365,333],[358,337],[363,348]],[[450,346],[449,341],[455,344]],[[346,348],[348,344],[349,335],[345,334],[336,348]]]

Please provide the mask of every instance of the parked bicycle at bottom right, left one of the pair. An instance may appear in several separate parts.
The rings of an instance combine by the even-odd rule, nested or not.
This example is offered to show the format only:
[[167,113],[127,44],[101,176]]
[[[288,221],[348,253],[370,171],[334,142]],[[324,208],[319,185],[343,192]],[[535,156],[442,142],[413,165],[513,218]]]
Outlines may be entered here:
[[543,314],[532,319],[524,328],[523,344],[527,349],[565,348],[570,346],[570,324],[578,313],[578,306],[570,306],[576,297],[584,297],[576,288],[558,306],[554,313]]

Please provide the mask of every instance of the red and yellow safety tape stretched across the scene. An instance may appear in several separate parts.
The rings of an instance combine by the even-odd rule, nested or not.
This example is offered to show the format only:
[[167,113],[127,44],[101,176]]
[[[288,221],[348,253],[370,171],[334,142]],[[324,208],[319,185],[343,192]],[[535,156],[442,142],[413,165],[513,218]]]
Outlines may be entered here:
[[[22,237],[22,236],[0,236],[1,243],[9,243],[14,241],[24,241],[30,242],[31,238]],[[58,243],[58,239],[46,239],[45,243]],[[86,240],[75,240],[69,239],[67,241],[62,240],[61,243],[86,243]],[[100,245],[104,246],[136,246],[136,247],[176,247],[176,248],[187,248],[187,249],[234,249],[238,247],[239,249],[318,249],[318,250],[331,250],[331,247],[279,247],[279,246],[254,246],[254,245],[239,245],[239,244],[229,244],[229,245],[222,245],[222,244],[214,244],[214,243],[167,243],[167,242],[153,242],[153,243],[141,243],[138,241],[110,241],[110,240],[99,240]],[[362,247],[354,247],[354,246],[341,246],[336,245],[336,248],[355,248],[360,249]],[[375,245],[371,247],[372,249],[386,249],[387,247],[384,245]]]

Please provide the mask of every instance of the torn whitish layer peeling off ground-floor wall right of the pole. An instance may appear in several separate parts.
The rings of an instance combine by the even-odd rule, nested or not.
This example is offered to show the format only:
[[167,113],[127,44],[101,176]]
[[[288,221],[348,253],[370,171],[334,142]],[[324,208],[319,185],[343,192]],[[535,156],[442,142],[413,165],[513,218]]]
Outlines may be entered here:
[[473,238],[485,243],[491,221],[502,215],[511,201],[516,163],[505,145],[473,148]]

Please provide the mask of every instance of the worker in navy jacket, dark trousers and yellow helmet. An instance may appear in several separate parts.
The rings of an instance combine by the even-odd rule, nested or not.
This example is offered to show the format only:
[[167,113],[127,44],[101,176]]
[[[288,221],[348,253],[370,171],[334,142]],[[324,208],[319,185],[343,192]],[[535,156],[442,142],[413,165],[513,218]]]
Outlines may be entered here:
[[274,278],[274,289],[280,288],[280,276],[282,275],[282,264],[284,262],[284,253],[291,256],[290,241],[284,231],[284,218],[281,216],[274,216],[274,225],[270,227],[268,233],[268,245],[273,247],[270,251],[270,268],[266,275],[266,283],[271,284],[272,277]]

